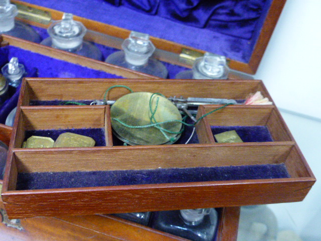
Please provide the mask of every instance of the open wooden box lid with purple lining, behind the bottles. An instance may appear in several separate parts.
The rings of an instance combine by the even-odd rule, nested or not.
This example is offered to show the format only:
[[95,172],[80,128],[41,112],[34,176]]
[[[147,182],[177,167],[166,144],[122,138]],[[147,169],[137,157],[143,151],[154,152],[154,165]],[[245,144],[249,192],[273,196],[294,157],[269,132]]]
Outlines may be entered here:
[[[212,52],[226,56],[230,61],[230,68],[250,74],[256,72],[285,4],[285,0],[258,1],[257,3],[240,1],[234,6],[225,6],[224,1],[210,5],[207,3],[206,14],[209,14],[209,9],[213,13],[211,12],[206,26],[214,21],[213,29],[209,30],[208,27],[195,27],[189,23],[193,19],[193,15],[196,17],[206,15],[199,12],[204,4],[202,2],[191,8],[196,11],[195,14],[193,11],[189,12],[191,9],[187,10],[189,14],[185,16],[185,19],[182,17],[185,22],[169,20],[169,16],[164,13],[161,14],[161,17],[157,13],[156,15],[148,15],[142,13],[141,10],[133,10],[133,5],[129,8],[126,6],[115,7],[108,1],[102,0],[87,3],[39,0],[24,1],[27,3],[15,0],[12,2],[28,6],[32,13],[37,12],[32,9],[45,11],[47,20],[60,20],[63,12],[73,13],[79,16],[75,19],[81,21],[90,30],[87,39],[97,43],[120,49],[121,42],[128,38],[130,31],[134,30],[151,36],[152,42],[158,49],[155,57],[165,62],[190,66],[190,63],[187,63],[184,58],[185,55],[194,51],[201,54]],[[161,12],[160,8],[161,6],[158,6],[156,11]],[[230,10],[228,10],[229,8]],[[240,9],[242,10],[240,11]],[[27,17],[26,20],[28,13],[22,12],[23,15],[20,15],[20,18],[25,19],[24,21],[27,23],[44,28],[48,27],[48,23],[47,25],[43,24],[44,18],[39,24],[35,22],[35,18]],[[223,15],[231,19],[226,21]],[[243,30],[244,25],[252,26],[251,30],[249,32]]]

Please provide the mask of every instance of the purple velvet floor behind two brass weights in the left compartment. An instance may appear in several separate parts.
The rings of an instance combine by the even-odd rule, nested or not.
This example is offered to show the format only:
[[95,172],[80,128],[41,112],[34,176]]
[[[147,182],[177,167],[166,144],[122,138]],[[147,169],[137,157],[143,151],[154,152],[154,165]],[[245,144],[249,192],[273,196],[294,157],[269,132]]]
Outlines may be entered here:
[[106,146],[105,134],[103,128],[90,128],[90,129],[59,129],[59,130],[33,130],[26,131],[26,141],[31,136],[39,136],[39,137],[50,137],[54,141],[57,140],[58,136],[65,132],[71,132],[79,135],[83,135],[86,137],[91,137],[95,140],[95,147],[104,147]]

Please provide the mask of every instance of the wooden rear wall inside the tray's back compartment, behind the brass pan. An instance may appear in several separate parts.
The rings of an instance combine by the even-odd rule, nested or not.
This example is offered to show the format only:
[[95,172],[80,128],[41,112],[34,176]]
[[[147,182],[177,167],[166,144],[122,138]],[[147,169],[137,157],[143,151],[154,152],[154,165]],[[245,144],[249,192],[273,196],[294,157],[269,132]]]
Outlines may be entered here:
[[[250,93],[262,91],[271,99],[260,80],[176,80],[176,79],[63,79],[25,78],[31,100],[93,100],[103,99],[105,91],[114,85],[125,85],[134,92],[162,93],[167,97],[204,97],[246,99]],[[57,88],[59,86],[59,88]],[[77,86],[77,88],[75,88]],[[90,89],[91,91],[88,91]],[[58,91],[59,90],[59,91]],[[113,88],[107,99],[115,100],[130,91]],[[25,93],[27,95],[28,93]]]

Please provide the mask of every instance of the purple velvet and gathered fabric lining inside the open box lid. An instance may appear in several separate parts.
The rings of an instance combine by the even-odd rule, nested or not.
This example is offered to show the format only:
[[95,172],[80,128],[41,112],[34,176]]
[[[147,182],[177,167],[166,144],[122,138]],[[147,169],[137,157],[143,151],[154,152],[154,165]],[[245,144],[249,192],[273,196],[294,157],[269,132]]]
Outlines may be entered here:
[[[224,55],[228,58],[247,63],[252,55],[253,47],[261,32],[263,20],[266,17],[272,0],[216,1],[213,4],[214,10],[211,11],[208,10],[208,3],[206,1],[195,5],[195,8],[193,4],[188,5],[187,9],[183,11],[176,9],[177,1],[175,3],[173,1],[169,6],[166,5],[168,1],[163,1],[160,2],[159,8],[162,9],[161,15],[164,18],[141,13],[155,13],[155,9],[152,6],[150,7],[148,3],[141,5],[141,1],[127,1],[125,6],[119,7],[103,0],[27,0],[26,2],[62,12],[73,13],[77,16],[124,29],[148,33],[154,37]],[[119,1],[112,2],[117,3]],[[148,2],[152,3],[152,1]],[[178,3],[178,5],[182,5],[182,2]],[[205,10],[207,15],[203,14],[200,10]],[[174,14],[169,14],[170,12]],[[177,14],[178,12],[179,14]],[[166,19],[170,17],[174,17],[175,21]],[[205,23],[207,27],[212,26],[215,31],[208,28],[189,26],[188,24],[193,19],[202,19],[199,21],[201,25]]]

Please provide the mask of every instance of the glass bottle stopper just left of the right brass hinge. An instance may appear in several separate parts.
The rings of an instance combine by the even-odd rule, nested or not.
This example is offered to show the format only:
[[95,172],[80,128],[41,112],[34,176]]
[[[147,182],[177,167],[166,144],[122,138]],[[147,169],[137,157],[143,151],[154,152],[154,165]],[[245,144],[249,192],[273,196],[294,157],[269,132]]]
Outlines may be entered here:
[[125,52],[125,60],[132,65],[144,65],[155,51],[148,34],[132,31],[128,39],[121,45]]

